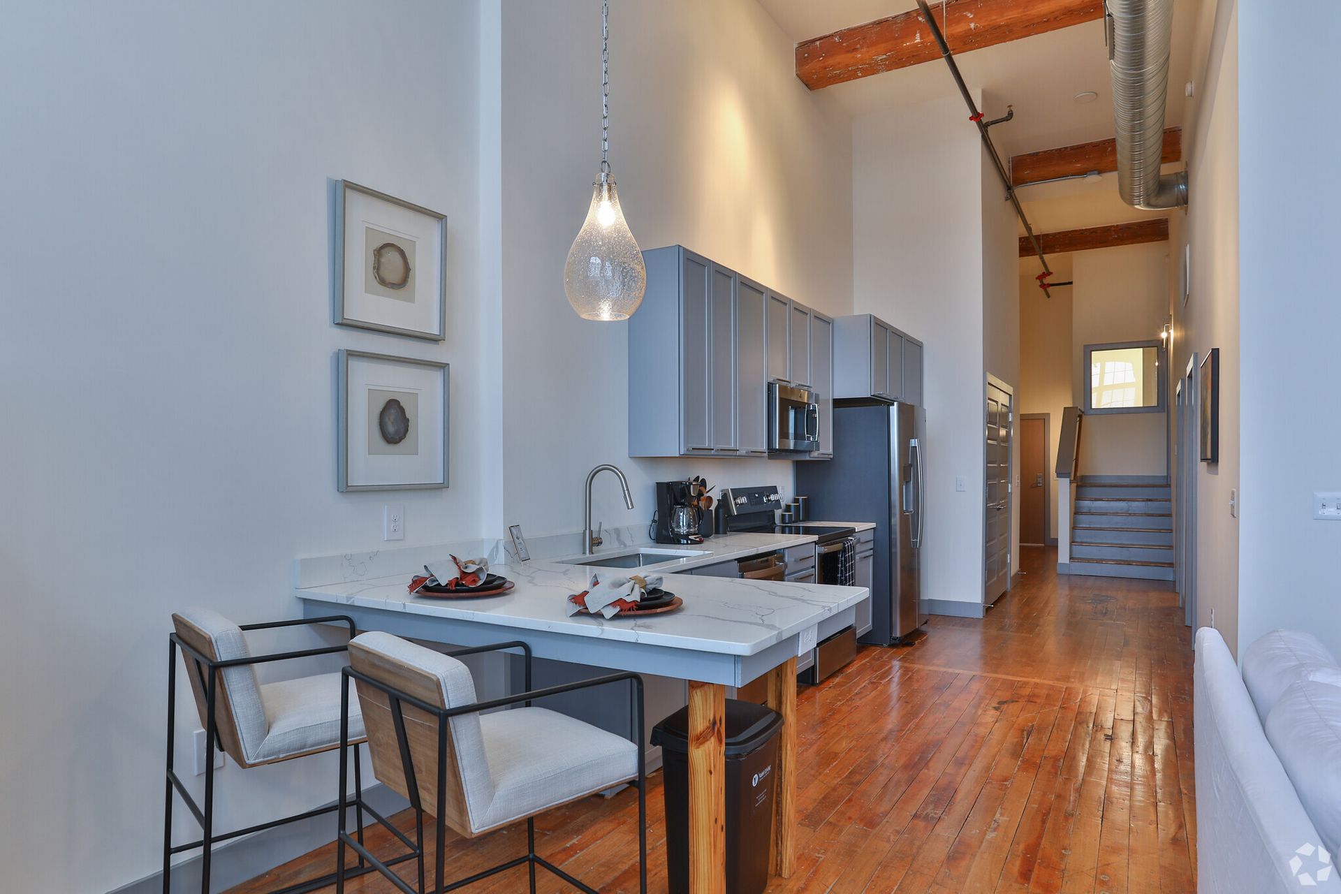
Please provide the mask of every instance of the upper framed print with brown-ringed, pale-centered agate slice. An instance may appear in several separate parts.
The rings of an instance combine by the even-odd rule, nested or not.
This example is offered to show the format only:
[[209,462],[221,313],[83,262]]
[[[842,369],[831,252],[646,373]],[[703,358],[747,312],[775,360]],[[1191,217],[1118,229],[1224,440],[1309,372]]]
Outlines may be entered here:
[[447,338],[447,217],[367,186],[335,185],[337,326]]

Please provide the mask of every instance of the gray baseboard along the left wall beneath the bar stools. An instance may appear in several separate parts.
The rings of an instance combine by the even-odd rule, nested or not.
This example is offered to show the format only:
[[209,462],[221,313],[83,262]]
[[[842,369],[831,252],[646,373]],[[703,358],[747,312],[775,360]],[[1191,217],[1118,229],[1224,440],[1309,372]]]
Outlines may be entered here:
[[[409,802],[381,783],[366,787],[363,800],[388,818],[409,807]],[[181,802],[177,802],[177,806],[182,811],[186,810]],[[353,811],[350,811],[349,822],[354,822]],[[365,826],[375,822],[365,814]],[[161,832],[161,828],[154,830],[156,836]],[[335,840],[335,814],[323,814],[299,823],[288,823],[239,838],[215,848],[209,866],[209,886],[216,891],[227,890],[333,840]],[[114,889],[109,894],[162,894],[162,877],[164,874],[158,871]],[[200,854],[173,866],[172,882],[174,891],[198,891]]]

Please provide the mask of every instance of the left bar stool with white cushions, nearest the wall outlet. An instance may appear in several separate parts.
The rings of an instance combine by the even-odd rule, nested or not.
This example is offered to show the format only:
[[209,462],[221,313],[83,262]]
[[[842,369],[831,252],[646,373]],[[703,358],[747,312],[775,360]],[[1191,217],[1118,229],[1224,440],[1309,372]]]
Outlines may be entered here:
[[[247,646],[244,631],[272,630],[314,623],[345,623],[350,638],[354,637],[354,621],[346,615],[310,618],[296,621],[276,621],[272,623],[237,626],[219,613],[208,609],[190,609],[172,617],[176,633],[168,637],[168,780],[164,796],[164,894],[172,891],[172,856],[182,851],[201,848],[201,891],[209,894],[209,863],[213,846],[251,832],[259,832],[286,823],[320,816],[341,810],[342,804],[318,807],[283,819],[259,823],[219,834],[215,831],[215,749],[219,748],[233,759],[239,767],[251,768],[264,764],[278,764],[307,755],[342,748],[341,767],[349,747],[354,748],[354,781],[362,781],[358,749],[366,741],[363,718],[357,708],[345,718],[347,735],[341,736],[341,689],[343,678],[339,672],[260,684],[256,680],[256,665],[294,658],[311,658],[342,653],[346,646],[326,646],[303,649],[270,655],[252,655]],[[173,769],[173,740],[176,735],[177,706],[177,650],[182,651],[186,677],[196,696],[196,710],[200,725],[205,728],[205,803],[200,806],[186,791]],[[181,796],[196,822],[200,823],[201,838],[185,844],[172,843],[173,791]],[[355,804],[358,835],[362,839],[363,815],[367,807]],[[343,814],[341,815],[343,818]],[[343,826],[343,819],[341,820]],[[394,860],[409,859],[413,854]],[[359,860],[353,874],[370,871],[371,867]],[[330,885],[335,878],[331,873],[323,878],[300,882],[280,889],[274,894],[299,894]]]

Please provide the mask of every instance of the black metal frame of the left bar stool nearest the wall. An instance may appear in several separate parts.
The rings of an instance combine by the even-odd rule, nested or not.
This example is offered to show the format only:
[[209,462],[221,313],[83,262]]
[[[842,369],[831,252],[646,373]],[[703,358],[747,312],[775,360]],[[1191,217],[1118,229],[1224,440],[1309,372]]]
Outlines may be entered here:
[[[349,626],[350,639],[354,638],[357,630],[354,629],[354,619],[349,615],[330,615],[326,618],[296,618],[292,621],[274,621],[270,623],[256,623],[256,625],[240,625],[241,630],[271,630],[275,627],[295,627],[299,625],[318,625],[318,623],[343,623]],[[334,814],[345,807],[343,803],[330,804],[327,807],[318,807],[315,810],[304,811],[302,814],[294,814],[292,816],[286,816],[283,819],[270,820],[267,823],[257,823],[256,826],[248,826],[247,828],[237,828],[231,832],[216,834],[215,832],[215,749],[223,751],[223,740],[219,737],[219,721],[215,716],[215,704],[219,698],[219,677],[221,672],[227,667],[239,667],[243,665],[261,665],[271,663],[275,661],[290,661],[294,658],[311,658],[315,655],[331,655],[342,651],[349,651],[347,646],[323,646],[320,649],[302,649],[298,651],[283,651],[270,655],[256,655],[252,658],[229,658],[227,661],[212,661],[196,649],[193,649],[186,642],[176,634],[169,634],[168,637],[168,772],[166,772],[166,785],[164,793],[164,894],[172,894],[172,858],[174,854],[181,854],[182,851],[194,850],[197,847],[201,850],[201,893],[209,894],[209,863],[211,851],[213,846],[219,842],[227,842],[233,838],[240,838],[243,835],[249,835],[251,832],[260,832],[268,828],[275,828],[276,826],[284,826],[287,823],[296,823],[299,820],[311,819],[314,816],[320,816],[323,814]],[[201,689],[205,690],[205,804],[201,807],[196,803],[196,799],[190,796],[186,787],[182,784],[181,777],[173,769],[173,745],[176,740],[176,712],[177,712],[177,649],[182,650],[182,659],[185,661],[189,655],[194,662],[196,673],[200,676]],[[349,753],[349,748],[354,749],[354,784],[361,785],[362,771],[359,769],[358,749],[361,743],[349,744],[347,732],[347,718],[342,721],[341,725],[341,779],[343,779],[345,759]],[[190,815],[200,824],[201,838],[185,844],[172,843],[172,808],[173,808],[173,792],[181,796]],[[363,838],[363,811],[371,812],[366,804],[354,804],[358,824],[358,838]],[[341,828],[343,828],[345,816],[341,814]],[[414,854],[405,854],[389,860],[390,863],[400,863],[402,860],[410,859]],[[349,875],[363,875],[365,873],[373,871],[371,866],[367,866],[362,858],[359,858],[358,866],[349,873]],[[304,894],[306,891],[312,891],[319,887],[327,887],[337,879],[335,873],[329,873],[320,878],[311,879],[307,882],[299,882],[296,885],[290,885],[287,887],[271,891],[271,894]]]

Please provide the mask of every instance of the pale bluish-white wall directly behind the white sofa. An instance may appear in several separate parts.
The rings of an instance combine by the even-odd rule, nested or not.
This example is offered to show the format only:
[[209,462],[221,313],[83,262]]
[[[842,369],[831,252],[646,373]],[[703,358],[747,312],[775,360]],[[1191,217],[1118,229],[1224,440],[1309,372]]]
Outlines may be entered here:
[[[1313,519],[1313,492],[1341,491],[1341,302],[1329,247],[1341,222],[1341,123],[1320,114],[1341,80],[1341,8],[1316,1],[1302,11],[1313,16],[1307,27],[1265,4],[1238,11],[1238,642],[1242,650],[1267,630],[1298,627],[1341,654],[1341,524]],[[1234,351],[1220,347],[1222,358]],[[1212,512],[1224,512],[1224,484]]]

